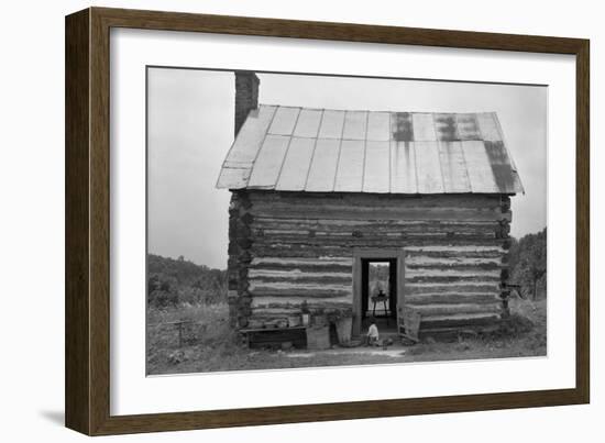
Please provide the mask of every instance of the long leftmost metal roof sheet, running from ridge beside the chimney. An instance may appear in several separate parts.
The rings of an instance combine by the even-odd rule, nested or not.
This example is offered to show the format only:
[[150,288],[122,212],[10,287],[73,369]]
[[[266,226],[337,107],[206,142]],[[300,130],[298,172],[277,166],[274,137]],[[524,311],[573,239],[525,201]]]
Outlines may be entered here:
[[223,167],[252,167],[258,148],[265,140],[275,109],[276,107],[260,107],[257,110],[250,111],[227,155]]

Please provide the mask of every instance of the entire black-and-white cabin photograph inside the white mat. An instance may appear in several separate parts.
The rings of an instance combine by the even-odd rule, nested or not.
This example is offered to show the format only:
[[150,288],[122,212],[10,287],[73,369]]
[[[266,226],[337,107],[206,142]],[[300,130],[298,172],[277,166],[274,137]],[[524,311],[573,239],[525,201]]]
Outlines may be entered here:
[[547,356],[548,86],[148,66],[146,374]]

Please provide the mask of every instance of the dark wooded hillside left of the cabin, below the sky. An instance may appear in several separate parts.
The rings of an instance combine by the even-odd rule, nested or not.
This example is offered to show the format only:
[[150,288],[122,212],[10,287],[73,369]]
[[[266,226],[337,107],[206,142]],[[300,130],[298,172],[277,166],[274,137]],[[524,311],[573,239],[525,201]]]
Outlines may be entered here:
[[150,307],[216,303],[227,299],[227,270],[147,254]]

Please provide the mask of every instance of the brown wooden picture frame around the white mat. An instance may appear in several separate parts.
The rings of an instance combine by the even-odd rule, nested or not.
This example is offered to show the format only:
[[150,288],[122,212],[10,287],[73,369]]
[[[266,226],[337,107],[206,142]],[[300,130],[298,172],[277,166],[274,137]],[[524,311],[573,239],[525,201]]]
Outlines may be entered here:
[[[575,388],[212,411],[110,414],[109,40],[132,27],[576,57]],[[586,403],[590,399],[588,41],[90,8],[66,18],[66,425],[89,435]]]

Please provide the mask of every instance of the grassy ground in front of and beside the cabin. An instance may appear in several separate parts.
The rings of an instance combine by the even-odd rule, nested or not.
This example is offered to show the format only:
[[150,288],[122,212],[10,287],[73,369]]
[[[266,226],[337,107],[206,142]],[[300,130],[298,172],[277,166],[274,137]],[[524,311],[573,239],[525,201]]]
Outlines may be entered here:
[[[406,362],[543,356],[547,353],[547,302],[512,299],[510,320],[501,330],[473,337],[428,337],[414,346],[387,351],[370,347],[307,352],[257,351],[241,344],[229,325],[224,303],[182,306],[147,312],[147,374],[353,366]],[[190,320],[180,326],[175,322]]]

